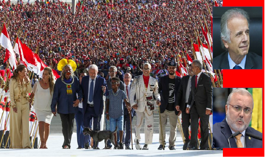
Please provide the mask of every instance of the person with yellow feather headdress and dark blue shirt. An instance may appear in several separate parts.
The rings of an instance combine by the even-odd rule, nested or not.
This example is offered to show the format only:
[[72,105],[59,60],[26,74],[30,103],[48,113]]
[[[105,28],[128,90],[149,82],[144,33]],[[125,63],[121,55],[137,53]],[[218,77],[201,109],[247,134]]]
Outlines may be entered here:
[[60,114],[64,135],[63,149],[70,149],[75,113],[78,112],[78,104],[82,99],[82,90],[74,75],[76,67],[75,61],[70,59],[62,59],[57,64],[57,69],[62,72],[54,85],[51,111],[54,116],[57,112]]

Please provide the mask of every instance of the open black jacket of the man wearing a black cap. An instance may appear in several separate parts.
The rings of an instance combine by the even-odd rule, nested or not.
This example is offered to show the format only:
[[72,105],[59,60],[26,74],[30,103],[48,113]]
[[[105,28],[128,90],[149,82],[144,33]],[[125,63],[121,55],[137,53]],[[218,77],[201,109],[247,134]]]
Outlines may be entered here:
[[[169,97],[169,75],[163,76],[160,78],[158,82],[158,92],[160,93],[161,97],[161,105],[160,105],[160,113],[164,113],[168,104],[168,97]],[[175,89],[174,89],[174,96],[175,96],[175,102],[177,98],[177,92],[179,90],[181,83],[181,77],[175,76]],[[175,103],[176,106],[176,103]],[[178,115],[178,111],[175,109],[175,114]]]

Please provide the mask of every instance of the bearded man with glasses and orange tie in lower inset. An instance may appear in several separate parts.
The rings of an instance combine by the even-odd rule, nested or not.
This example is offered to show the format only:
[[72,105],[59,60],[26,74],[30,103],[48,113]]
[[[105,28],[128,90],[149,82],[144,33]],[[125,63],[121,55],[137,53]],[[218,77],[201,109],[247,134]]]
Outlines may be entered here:
[[248,127],[254,107],[252,95],[244,88],[233,90],[225,105],[226,117],[222,122],[213,125],[213,147],[229,148],[228,138],[235,132],[240,132],[230,139],[231,148],[262,148],[263,142],[249,136],[251,133],[262,137],[262,133]]

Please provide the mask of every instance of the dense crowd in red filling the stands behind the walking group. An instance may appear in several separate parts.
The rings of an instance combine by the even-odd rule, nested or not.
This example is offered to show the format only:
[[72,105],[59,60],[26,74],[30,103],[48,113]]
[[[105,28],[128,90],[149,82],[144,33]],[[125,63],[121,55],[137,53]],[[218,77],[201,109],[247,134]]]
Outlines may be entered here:
[[[12,44],[21,26],[21,41],[33,52],[39,47],[40,58],[55,70],[60,59],[68,57],[79,68],[96,64],[104,77],[113,65],[121,74],[141,75],[144,62],[151,63],[155,75],[163,74],[160,70],[177,57],[185,65],[186,52],[194,59],[194,29],[206,42],[199,20],[203,15],[211,28],[207,3],[212,12],[214,3],[209,0],[84,0],[78,1],[72,15],[71,5],[59,0],[24,4],[0,0],[0,22],[7,13]],[[5,67],[4,55],[2,48],[0,65]]]

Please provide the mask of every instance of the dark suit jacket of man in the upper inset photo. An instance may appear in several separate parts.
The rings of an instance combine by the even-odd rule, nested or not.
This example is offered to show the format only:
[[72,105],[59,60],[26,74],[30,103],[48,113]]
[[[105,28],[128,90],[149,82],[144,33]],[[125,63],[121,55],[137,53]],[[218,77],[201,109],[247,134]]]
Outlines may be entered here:
[[[228,62],[228,51],[221,53],[213,58],[214,69],[230,69]],[[248,52],[245,69],[262,69],[262,56],[253,52]]]

